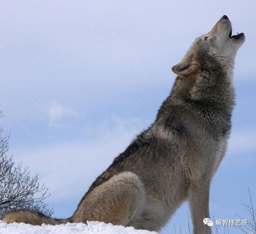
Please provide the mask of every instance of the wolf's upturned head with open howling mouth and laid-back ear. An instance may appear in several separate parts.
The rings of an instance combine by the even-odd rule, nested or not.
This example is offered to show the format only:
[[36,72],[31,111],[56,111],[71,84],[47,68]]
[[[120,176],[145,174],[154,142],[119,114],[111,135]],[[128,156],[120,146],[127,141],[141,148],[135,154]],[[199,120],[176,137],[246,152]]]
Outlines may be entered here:
[[234,69],[236,52],[244,43],[244,33],[232,36],[228,16],[222,16],[211,31],[198,37],[180,63],[172,67],[177,75],[190,75],[200,70]]

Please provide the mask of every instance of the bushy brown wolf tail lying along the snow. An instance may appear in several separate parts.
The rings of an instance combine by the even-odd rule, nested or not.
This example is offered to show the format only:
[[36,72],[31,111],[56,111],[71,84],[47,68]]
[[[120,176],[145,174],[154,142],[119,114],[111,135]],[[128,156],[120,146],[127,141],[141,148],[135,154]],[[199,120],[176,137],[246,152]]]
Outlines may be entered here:
[[42,225],[44,224],[66,224],[67,222],[72,222],[71,218],[66,219],[56,219],[45,216],[44,214],[32,210],[14,210],[8,212],[3,217],[2,221],[6,223],[12,222],[24,222],[26,224],[32,225]]

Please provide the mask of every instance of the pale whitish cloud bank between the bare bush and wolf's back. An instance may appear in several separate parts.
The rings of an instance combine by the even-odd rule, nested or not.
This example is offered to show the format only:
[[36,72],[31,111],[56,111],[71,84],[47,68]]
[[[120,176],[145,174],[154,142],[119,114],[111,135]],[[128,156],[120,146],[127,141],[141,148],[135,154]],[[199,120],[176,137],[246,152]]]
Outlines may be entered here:
[[85,193],[113,159],[142,131],[138,120],[112,118],[114,128],[95,127],[98,138],[89,142],[70,142],[14,149],[14,160],[38,173],[40,182],[49,188],[48,201],[61,201]]

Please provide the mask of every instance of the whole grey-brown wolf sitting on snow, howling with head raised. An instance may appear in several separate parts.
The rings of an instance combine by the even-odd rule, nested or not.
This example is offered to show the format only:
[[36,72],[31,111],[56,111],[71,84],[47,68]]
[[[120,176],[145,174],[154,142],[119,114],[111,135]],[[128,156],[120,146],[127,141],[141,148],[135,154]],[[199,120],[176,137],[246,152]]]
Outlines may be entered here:
[[194,41],[172,67],[178,76],[154,123],[92,183],[70,218],[16,210],[3,221],[41,225],[89,220],[159,231],[188,199],[193,233],[212,233],[203,220],[210,218],[210,183],[227,148],[234,59],[244,41],[244,33],[232,36],[226,15]]

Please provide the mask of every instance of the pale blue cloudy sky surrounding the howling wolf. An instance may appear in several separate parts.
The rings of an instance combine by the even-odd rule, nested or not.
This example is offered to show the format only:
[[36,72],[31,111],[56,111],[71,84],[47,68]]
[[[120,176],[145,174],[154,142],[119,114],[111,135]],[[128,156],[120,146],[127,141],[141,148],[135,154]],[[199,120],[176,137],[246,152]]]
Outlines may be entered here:
[[[50,189],[68,217],[94,179],[154,121],[170,68],[226,14],[244,32],[234,71],[236,107],[226,157],[211,186],[215,219],[249,219],[255,187],[255,1],[1,1],[0,125],[16,162]],[[184,204],[162,233],[179,224]],[[238,234],[236,228],[230,233]]]

